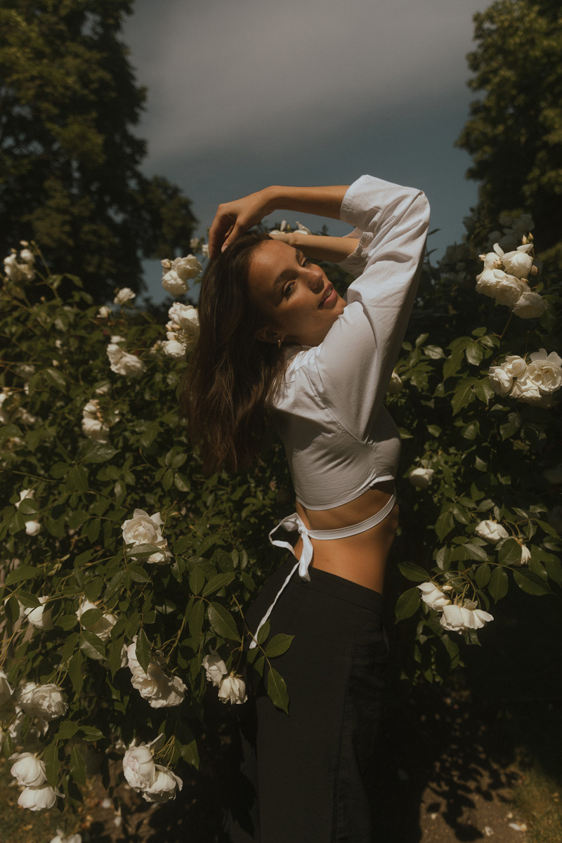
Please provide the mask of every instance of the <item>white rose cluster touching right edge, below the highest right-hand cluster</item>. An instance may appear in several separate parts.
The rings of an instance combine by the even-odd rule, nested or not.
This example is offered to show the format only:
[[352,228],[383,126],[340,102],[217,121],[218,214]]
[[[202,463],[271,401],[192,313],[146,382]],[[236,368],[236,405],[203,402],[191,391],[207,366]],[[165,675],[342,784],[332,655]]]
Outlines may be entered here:
[[530,361],[517,354],[506,357],[500,366],[491,366],[488,375],[497,395],[509,395],[527,404],[549,406],[562,386],[562,358],[544,348],[531,352]]

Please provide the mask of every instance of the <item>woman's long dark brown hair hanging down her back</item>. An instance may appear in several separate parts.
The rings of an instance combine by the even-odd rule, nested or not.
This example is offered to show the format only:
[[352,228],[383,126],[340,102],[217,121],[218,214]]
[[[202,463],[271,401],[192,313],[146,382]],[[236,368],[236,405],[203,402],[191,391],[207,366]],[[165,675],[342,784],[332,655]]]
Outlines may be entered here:
[[262,317],[249,295],[249,264],[268,234],[248,232],[209,261],[201,280],[200,335],[185,372],[180,413],[200,443],[204,468],[247,470],[260,453],[268,396],[284,354],[257,340]]

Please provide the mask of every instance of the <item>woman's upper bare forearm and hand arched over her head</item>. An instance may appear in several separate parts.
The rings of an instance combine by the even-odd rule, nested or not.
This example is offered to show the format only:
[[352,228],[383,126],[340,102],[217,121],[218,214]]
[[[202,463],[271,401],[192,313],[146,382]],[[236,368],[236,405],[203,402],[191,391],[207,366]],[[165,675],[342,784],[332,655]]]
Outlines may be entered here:
[[345,185],[331,187],[265,187],[242,199],[224,202],[217,208],[209,229],[209,255],[216,257],[240,234],[274,211],[296,211],[340,219]]

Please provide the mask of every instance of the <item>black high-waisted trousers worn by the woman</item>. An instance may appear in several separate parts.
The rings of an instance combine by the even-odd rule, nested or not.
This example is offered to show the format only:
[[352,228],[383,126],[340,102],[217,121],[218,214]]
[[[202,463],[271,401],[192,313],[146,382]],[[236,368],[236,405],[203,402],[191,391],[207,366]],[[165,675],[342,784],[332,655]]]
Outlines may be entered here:
[[[246,615],[255,631],[294,560],[265,583]],[[240,706],[243,777],[230,807],[233,843],[372,843],[366,777],[375,755],[388,644],[383,597],[310,568],[270,615],[270,637],[294,635],[272,664],[286,681],[289,715],[263,682]],[[254,800],[252,802],[252,800]]]

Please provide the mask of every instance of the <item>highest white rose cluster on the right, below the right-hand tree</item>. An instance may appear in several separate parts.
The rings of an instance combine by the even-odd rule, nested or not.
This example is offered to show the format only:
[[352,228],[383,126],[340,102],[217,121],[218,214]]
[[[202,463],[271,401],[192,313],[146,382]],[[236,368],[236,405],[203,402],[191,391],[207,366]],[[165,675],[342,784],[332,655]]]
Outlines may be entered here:
[[496,302],[511,308],[522,319],[534,319],[546,309],[544,299],[533,293],[527,276],[533,272],[532,243],[523,243],[516,250],[504,252],[500,244],[494,251],[480,255],[484,271],[476,277],[476,292],[495,298]]

